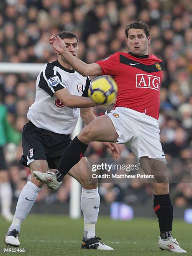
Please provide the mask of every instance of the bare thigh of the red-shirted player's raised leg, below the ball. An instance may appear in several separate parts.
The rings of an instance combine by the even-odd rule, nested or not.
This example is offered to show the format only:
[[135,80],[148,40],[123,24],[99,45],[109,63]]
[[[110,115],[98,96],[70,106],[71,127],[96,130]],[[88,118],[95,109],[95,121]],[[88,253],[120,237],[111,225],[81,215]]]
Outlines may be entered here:
[[107,115],[102,115],[90,124],[86,125],[78,135],[80,141],[89,143],[90,141],[117,141],[118,133],[111,119]]

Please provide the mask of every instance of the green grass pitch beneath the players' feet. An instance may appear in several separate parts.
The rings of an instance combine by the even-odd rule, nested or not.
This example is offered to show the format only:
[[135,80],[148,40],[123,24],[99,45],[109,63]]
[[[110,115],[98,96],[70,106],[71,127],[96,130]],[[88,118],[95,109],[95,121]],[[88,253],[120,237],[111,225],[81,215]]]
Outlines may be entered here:
[[[3,239],[9,223],[0,218],[0,255],[30,256],[166,256],[178,255],[159,250],[158,222],[156,219],[135,218],[132,221],[114,221],[100,216],[96,225],[96,234],[102,241],[114,248],[114,251],[82,250],[83,219],[71,220],[62,215],[29,215],[20,232],[20,247],[25,253],[3,253]],[[182,220],[174,220],[173,237],[181,247],[192,255],[192,225]],[[13,247],[11,247],[13,248]]]

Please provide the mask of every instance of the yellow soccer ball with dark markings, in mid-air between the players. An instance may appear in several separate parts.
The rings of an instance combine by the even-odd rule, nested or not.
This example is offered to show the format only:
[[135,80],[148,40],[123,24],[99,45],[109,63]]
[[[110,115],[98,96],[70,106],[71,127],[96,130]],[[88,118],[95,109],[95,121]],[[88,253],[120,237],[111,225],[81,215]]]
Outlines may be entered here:
[[90,84],[88,96],[95,103],[110,105],[115,100],[117,92],[118,87],[112,77],[100,76]]

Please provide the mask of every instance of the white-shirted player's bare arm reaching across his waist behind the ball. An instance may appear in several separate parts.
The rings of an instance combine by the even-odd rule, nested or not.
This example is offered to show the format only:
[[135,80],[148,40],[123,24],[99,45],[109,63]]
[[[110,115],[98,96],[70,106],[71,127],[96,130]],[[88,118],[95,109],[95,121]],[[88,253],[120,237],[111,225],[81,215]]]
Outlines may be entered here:
[[67,88],[56,91],[54,96],[61,100],[67,108],[90,108],[99,105],[92,102],[90,98],[70,94]]

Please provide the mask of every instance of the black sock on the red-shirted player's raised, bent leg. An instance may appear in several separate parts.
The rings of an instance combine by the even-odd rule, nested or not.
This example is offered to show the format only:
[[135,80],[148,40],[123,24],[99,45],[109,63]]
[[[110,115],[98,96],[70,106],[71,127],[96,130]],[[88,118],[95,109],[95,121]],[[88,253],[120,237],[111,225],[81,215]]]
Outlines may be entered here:
[[76,136],[71,144],[65,148],[57,166],[57,170],[59,171],[56,172],[58,182],[61,182],[67,172],[81,160],[87,147],[88,145],[79,141]]

